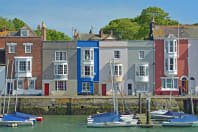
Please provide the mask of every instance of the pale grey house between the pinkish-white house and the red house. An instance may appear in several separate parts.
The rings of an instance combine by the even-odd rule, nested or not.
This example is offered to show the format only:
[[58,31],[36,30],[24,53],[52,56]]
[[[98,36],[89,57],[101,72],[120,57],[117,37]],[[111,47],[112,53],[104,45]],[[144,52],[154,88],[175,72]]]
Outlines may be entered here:
[[154,93],[153,41],[128,41],[127,95]]

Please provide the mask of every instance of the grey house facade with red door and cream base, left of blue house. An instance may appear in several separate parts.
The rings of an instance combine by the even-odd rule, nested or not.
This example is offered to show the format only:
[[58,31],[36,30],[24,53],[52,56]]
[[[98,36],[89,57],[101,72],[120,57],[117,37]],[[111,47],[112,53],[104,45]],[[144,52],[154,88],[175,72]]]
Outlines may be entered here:
[[76,69],[76,41],[42,42],[42,87],[45,96],[76,96]]

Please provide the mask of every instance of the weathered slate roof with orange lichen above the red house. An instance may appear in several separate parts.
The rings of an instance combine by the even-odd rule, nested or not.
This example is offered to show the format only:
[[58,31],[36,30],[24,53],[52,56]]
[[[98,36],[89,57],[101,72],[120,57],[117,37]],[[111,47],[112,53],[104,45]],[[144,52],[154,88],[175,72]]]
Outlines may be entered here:
[[192,25],[155,25],[153,27],[154,39],[168,38],[169,35],[183,39],[198,38],[198,26]]

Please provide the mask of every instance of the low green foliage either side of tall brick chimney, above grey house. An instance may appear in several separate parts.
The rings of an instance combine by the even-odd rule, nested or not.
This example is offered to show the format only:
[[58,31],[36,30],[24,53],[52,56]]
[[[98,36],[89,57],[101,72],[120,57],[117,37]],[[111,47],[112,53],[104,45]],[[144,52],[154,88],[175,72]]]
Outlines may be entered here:
[[[38,36],[41,36],[41,30],[34,31]],[[53,29],[46,29],[47,40],[72,40],[69,36],[65,35],[62,32],[53,30]]]

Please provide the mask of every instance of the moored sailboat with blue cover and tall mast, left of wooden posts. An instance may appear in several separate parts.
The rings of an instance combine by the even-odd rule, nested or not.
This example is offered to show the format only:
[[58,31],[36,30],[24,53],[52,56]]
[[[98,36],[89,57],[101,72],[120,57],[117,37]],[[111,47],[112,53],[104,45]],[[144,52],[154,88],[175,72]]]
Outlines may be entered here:
[[[115,85],[114,77],[114,62],[111,64],[111,77],[112,77],[112,95],[113,95],[113,112],[106,112],[96,114],[87,118],[87,127],[129,127],[137,126],[138,119],[133,114],[122,114],[118,112],[117,91],[118,85]],[[120,92],[120,91],[119,91]],[[121,95],[121,92],[120,92]],[[121,95],[122,97],[122,95]],[[128,108],[128,107],[127,107]],[[131,113],[128,109],[128,113]]]

